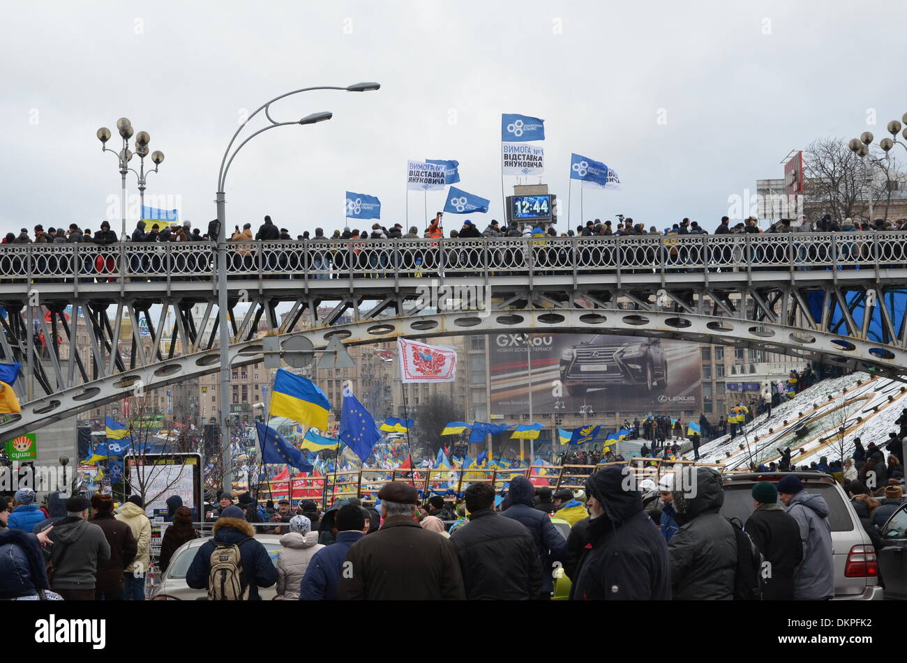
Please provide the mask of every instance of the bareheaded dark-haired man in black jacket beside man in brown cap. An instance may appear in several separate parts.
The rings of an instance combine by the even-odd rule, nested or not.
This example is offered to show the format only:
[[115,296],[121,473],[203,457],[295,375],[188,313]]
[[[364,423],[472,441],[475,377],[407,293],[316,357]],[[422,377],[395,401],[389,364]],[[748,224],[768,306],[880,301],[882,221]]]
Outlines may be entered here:
[[451,536],[468,600],[531,601],[541,592],[541,564],[532,534],[493,509],[494,489],[466,488],[469,523]]

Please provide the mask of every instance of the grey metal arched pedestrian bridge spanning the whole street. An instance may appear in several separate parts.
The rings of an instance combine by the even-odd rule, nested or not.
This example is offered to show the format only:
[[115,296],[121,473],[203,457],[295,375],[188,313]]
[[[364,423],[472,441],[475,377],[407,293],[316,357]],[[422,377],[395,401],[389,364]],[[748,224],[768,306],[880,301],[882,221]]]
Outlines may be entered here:
[[[740,345],[900,378],[905,240],[869,232],[230,243],[230,362],[261,360],[262,326],[281,343],[304,333],[316,350],[335,336],[362,344],[544,331]],[[0,304],[3,360],[34,374],[16,383],[22,417],[0,424],[5,436],[136,385],[219,370],[210,243],[0,245]],[[282,321],[278,305],[289,311]],[[136,323],[122,341],[127,315]]]

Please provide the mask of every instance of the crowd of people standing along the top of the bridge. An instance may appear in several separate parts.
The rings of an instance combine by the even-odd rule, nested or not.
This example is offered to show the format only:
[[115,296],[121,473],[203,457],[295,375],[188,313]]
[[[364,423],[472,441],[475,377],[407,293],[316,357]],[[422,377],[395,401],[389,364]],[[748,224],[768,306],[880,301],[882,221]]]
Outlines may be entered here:
[[[442,224],[442,213],[438,213],[431,220],[424,231],[420,232],[418,226],[410,226],[407,229],[399,224],[384,226],[379,222],[372,224],[370,228],[361,229],[358,227],[346,226],[342,230],[336,229],[331,234],[326,234],[321,227],[315,229],[314,233],[305,231],[302,234],[293,237],[286,227],[280,227],[273,222],[270,216],[265,216],[264,223],[258,226],[258,230],[253,234],[252,224],[246,223],[241,228],[239,225],[234,226],[234,230],[227,234],[231,250],[229,252],[229,270],[231,272],[268,272],[268,278],[288,278],[291,274],[312,272],[313,278],[327,279],[332,276],[335,278],[344,278],[353,271],[366,271],[372,274],[381,273],[388,269],[399,268],[405,276],[420,276],[428,274],[442,274],[444,267],[455,269],[461,266],[485,266],[473,265],[471,260],[462,251],[452,250],[440,255],[435,245],[430,245],[423,250],[415,252],[390,251],[375,252],[369,251],[369,244],[375,241],[385,241],[393,239],[429,239],[437,240],[443,238],[444,226]],[[632,218],[619,216],[615,223],[611,220],[601,222],[599,219],[590,220],[583,226],[577,226],[575,230],[568,229],[561,232],[554,226],[533,226],[532,224],[520,223],[500,223],[495,219],[480,230],[471,219],[456,222],[457,228],[450,229],[448,237],[463,239],[485,239],[493,240],[497,238],[509,237],[530,237],[536,238],[537,241],[531,242],[526,247],[504,248],[499,254],[495,254],[494,264],[489,267],[521,268],[526,264],[526,257],[523,255],[526,251],[532,251],[532,263],[540,270],[546,266],[561,265],[569,261],[565,252],[569,254],[570,249],[566,245],[549,244],[551,238],[569,238],[569,237],[613,237],[613,236],[659,236],[659,237],[682,237],[688,235],[708,235],[708,231],[700,226],[697,221],[691,221],[684,218],[671,226],[658,229],[657,226],[649,226],[647,230],[644,224],[636,223]],[[847,233],[856,231],[892,231],[907,230],[907,219],[898,221],[889,221],[885,219],[876,219],[872,223],[869,221],[853,220],[845,218],[835,220],[830,214],[825,214],[815,221],[811,221],[806,216],[799,216],[792,222],[791,219],[781,219],[766,230],[758,226],[756,217],[750,216],[746,221],[731,225],[727,216],[721,218],[720,223],[714,230],[714,235],[749,235],[749,234],[784,234],[784,233],[806,233],[806,232],[832,232]],[[166,221],[138,221],[132,232],[125,237],[123,241],[131,244],[143,245],[161,245],[175,244],[177,246],[185,243],[212,243],[216,242],[218,233],[218,222],[211,221],[207,230],[199,227],[192,227],[190,221],[184,221],[181,224],[173,224]],[[112,276],[103,276],[104,274],[117,274],[120,271],[120,265],[117,264],[117,257],[112,253],[104,253],[103,247],[119,243],[121,237],[112,230],[108,221],[103,221],[101,229],[92,231],[91,228],[81,228],[78,224],[70,224],[68,227],[48,227],[39,224],[34,226],[34,235],[30,235],[27,228],[22,228],[18,235],[7,233],[0,240],[2,244],[8,245],[61,245],[61,244],[85,244],[97,245],[98,253],[96,255],[85,256],[83,264],[71,265],[64,256],[54,257],[53,255],[38,255],[35,258],[35,274],[71,274],[73,267],[79,267],[77,270],[80,274],[96,274],[98,280],[111,279]],[[303,243],[307,247],[306,252],[287,251],[286,246],[258,249],[255,244],[258,241],[264,242],[283,242]],[[330,243],[327,246],[327,243]],[[319,245],[325,244],[323,249]],[[840,241],[838,246],[838,257],[843,258],[844,262],[853,262],[854,258],[861,257],[864,252],[868,251],[868,246],[859,241]],[[752,249],[750,256],[752,262],[759,263],[777,263],[777,262],[814,262],[817,258],[829,258],[827,249],[815,245],[796,245],[796,255],[787,256],[784,252],[775,255],[769,255],[762,248]],[[161,247],[162,248],[162,247]],[[348,250],[345,250],[348,249]],[[704,255],[703,249],[698,245],[685,245],[672,240],[662,242],[661,250],[665,253],[665,263],[672,269],[703,269],[704,260],[710,264],[708,269],[716,270],[720,264],[729,263],[735,259],[730,246],[715,246],[710,249],[710,255]],[[655,253],[655,247],[638,246],[629,249],[629,253],[620,256],[621,264],[626,264],[629,268],[634,265],[657,264],[658,257]],[[824,252],[824,253],[823,253]],[[260,254],[260,255],[259,255]],[[821,255],[820,255],[821,254]],[[737,256],[739,258],[739,256]],[[616,267],[618,266],[618,256],[614,255],[613,249],[602,247],[592,253],[589,249],[583,249],[583,255],[577,258],[580,263],[588,263],[589,266],[596,267]],[[21,263],[21,259],[20,263]],[[168,272],[176,273],[198,273],[204,274],[205,277],[210,275],[212,257],[195,256],[191,258],[186,251],[174,250],[173,255],[157,255],[156,252],[142,252],[132,255],[128,265],[129,274],[133,279],[144,280],[141,274],[161,274]],[[684,267],[684,265],[690,265]],[[15,269],[14,271],[19,271]],[[21,266],[21,264],[20,264]],[[754,266],[754,269],[766,268]],[[805,268],[805,267],[803,267]],[[277,273],[277,274],[270,274]],[[379,274],[375,274],[379,275]],[[160,277],[147,277],[154,280]],[[187,277],[190,278],[190,277]],[[200,277],[197,277],[200,278]]]

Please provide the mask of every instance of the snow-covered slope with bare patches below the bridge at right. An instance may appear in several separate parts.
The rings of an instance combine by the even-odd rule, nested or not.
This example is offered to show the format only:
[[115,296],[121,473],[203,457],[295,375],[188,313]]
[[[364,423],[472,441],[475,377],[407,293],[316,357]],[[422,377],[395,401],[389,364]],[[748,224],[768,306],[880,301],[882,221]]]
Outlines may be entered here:
[[[907,408],[907,385],[898,380],[873,378],[863,372],[823,380],[772,408],[771,416],[763,414],[746,424],[745,435],[733,440],[729,435],[717,437],[701,445],[699,461],[722,463],[726,470],[746,470],[751,459],[756,465],[767,466],[779,460],[778,447],[790,447],[791,460],[797,467],[818,462],[821,456],[831,462],[842,457],[838,432],[842,426],[847,457],[853,452],[854,437],[861,438],[863,447],[870,442],[879,446],[887,443],[888,434],[898,430],[894,421],[901,416],[902,408]],[[794,431],[801,426],[805,435],[796,437]],[[684,454],[687,460],[692,456],[692,450]]]

